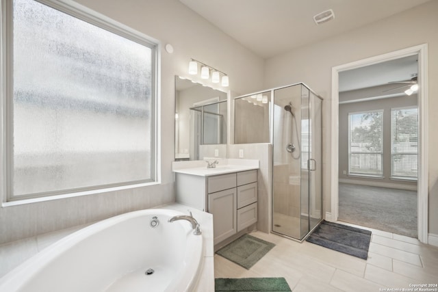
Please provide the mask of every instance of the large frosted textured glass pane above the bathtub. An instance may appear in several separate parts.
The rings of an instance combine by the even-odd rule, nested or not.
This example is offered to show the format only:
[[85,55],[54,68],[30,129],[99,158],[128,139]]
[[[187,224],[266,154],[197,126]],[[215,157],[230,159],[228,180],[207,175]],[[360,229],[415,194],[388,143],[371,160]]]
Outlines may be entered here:
[[12,2],[10,200],[153,181],[155,45]]

